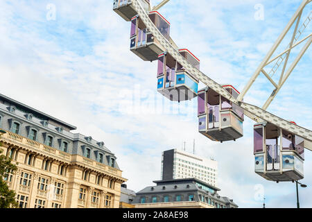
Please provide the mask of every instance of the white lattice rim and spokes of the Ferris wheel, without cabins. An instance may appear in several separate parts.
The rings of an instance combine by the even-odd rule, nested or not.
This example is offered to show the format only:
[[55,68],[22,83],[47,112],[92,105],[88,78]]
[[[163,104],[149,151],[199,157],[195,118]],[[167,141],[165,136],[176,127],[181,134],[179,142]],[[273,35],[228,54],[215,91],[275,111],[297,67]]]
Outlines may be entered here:
[[[166,2],[168,2],[168,1],[166,1]],[[301,13],[302,13],[304,6],[306,6],[306,4],[309,2],[311,2],[311,0],[304,0],[303,1],[302,5],[300,6],[300,8],[296,12],[296,15],[294,15],[294,17],[291,19],[291,22],[289,22],[289,24],[288,24],[289,27],[287,26],[285,28],[285,30],[283,31],[283,33],[281,34],[281,36],[277,40],[276,44],[279,44],[281,42],[281,39],[284,37],[284,35],[286,35],[286,32],[289,30],[289,28],[291,28],[291,24],[293,24],[295,22],[295,19],[297,19],[299,14],[301,16]],[[245,112],[244,112],[245,115],[247,115],[248,117],[250,117],[254,121],[270,122],[270,123],[274,124],[275,126],[282,128],[283,130],[288,130],[291,133],[294,133],[295,135],[298,135],[298,136],[306,139],[305,146],[306,146],[306,148],[309,148],[312,151],[312,131],[311,130],[303,128],[301,126],[297,126],[293,123],[290,123],[289,121],[281,119],[281,118],[275,116],[274,114],[267,112],[265,109],[259,108],[255,105],[251,105],[251,104],[242,102],[244,94],[242,94],[240,98],[234,99],[234,97],[232,97],[232,95],[229,94],[229,92],[227,92],[227,90],[225,90],[221,85],[219,85],[214,80],[212,80],[211,78],[209,78],[208,76],[203,74],[198,69],[196,69],[196,67],[193,67],[193,65],[191,65],[191,63],[189,63],[183,56],[180,55],[180,53],[177,51],[177,47],[175,46],[175,44],[172,44],[172,42],[169,42],[168,40],[166,40],[166,38],[159,32],[159,30],[156,28],[156,26],[153,24],[153,22],[150,21],[148,15],[146,14],[146,11],[144,10],[144,8],[142,8],[142,6],[138,0],[132,0],[132,4],[133,4],[135,10],[137,11],[137,14],[141,18],[142,22],[144,22],[144,24],[148,28],[148,30],[150,30],[150,32],[153,34],[153,36],[160,42],[160,44],[162,44],[164,49],[168,53],[170,53],[171,56],[173,56],[173,58],[175,60],[177,60],[177,62],[179,62],[185,69],[187,69],[187,71],[189,71],[189,73],[193,74],[193,76],[198,78],[202,83],[204,83],[205,85],[207,85],[208,87],[213,89],[215,92],[217,92],[221,96],[225,97],[229,101],[232,101],[232,103],[235,103],[236,105],[240,105],[241,108],[243,108],[243,110],[245,110]],[[300,58],[302,58],[302,55],[304,54],[306,49],[311,44],[311,35],[309,37],[306,37],[306,40],[308,40],[308,42],[304,46],[304,49],[302,49],[302,52],[300,53],[300,55],[298,55],[298,57],[296,58],[297,62],[300,60]],[[293,41],[294,41],[294,37],[293,37]],[[290,48],[288,50],[286,50],[286,52],[290,52],[291,49],[293,49],[293,47],[295,46],[295,44],[293,44],[293,41],[291,42]],[[297,44],[300,44],[301,42],[298,42]],[[276,48],[277,48],[277,46],[273,47],[273,49],[270,50],[270,52],[266,56],[264,62],[261,63],[260,67],[263,67],[264,65],[266,65],[268,63],[270,56],[272,56],[272,53],[275,51]],[[293,64],[293,68],[295,67],[295,65],[297,65],[297,62],[295,62],[295,64]],[[259,68],[259,71],[257,69],[256,72],[260,73],[261,70],[262,69]],[[293,69],[291,69],[291,71],[292,70]],[[280,87],[284,84],[284,82],[286,81],[286,79],[290,75],[291,71],[288,70],[286,72],[284,78],[281,79]],[[259,76],[259,74],[254,75],[254,76]],[[254,80],[255,80],[255,78],[252,78],[251,82],[253,83]],[[250,86],[251,85],[252,84],[250,84]],[[277,85],[277,87],[278,87],[278,85]],[[245,87],[245,88],[247,88],[247,87]],[[248,90],[244,90],[244,92],[247,92],[247,91]],[[274,99],[274,97],[273,97],[273,99]]]

